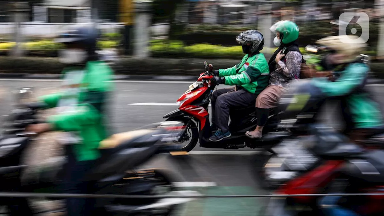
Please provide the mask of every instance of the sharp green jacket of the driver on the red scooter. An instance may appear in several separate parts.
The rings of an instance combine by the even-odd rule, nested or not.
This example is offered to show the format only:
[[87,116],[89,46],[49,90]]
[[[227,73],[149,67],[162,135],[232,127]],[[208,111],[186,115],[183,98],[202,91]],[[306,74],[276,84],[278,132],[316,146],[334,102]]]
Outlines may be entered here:
[[256,95],[268,86],[269,67],[263,53],[247,54],[237,65],[218,72],[220,77],[225,77],[225,85],[240,85]]

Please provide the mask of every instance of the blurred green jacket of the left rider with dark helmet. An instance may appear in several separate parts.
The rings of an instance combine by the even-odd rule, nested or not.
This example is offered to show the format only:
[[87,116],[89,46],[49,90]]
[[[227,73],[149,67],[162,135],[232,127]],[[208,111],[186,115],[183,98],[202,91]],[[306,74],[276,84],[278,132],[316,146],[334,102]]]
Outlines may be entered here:
[[99,158],[99,142],[109,136],[104,122],[106,99],[113,90],[113,71],[103,61],[89,61],[84,69],[65,68],[64,86],[71,86],[61,93],[42,96],[48,107],[62,108],[48,122],[57,131],[72,131],[82,138],[74,146],[79,161]]

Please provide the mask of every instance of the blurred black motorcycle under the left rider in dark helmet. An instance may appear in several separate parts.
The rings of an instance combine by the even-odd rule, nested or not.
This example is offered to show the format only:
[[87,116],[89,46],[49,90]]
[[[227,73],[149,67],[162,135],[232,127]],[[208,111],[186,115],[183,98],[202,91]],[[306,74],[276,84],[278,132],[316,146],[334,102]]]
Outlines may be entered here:
[[[22,99],[31,94],[31,88],[17,91]],[[0,136],[0,179],[2,191],[58,193],[66,158],[50,158],[39,170],[37,182],[20,185],[20,176],[27,165],[20,163],[35,133],[26,132],[27,125],[38,123],[38,103],[28,106],[16,105],[6,121]],[[181,125],[180,125],[181,124]],[[155,123],[138,130],[119,133],[101,142],[101,158],[95,161],[93,168],[86,174],[84,181],[96,182],[94,194],[130,194],[130,195],[199,195],[196,191],[177,191],[173,185],[174,174],[159,169],[136,169],[153,156],[178,150],[178,146],[169,145],[180,134],[183,124],[177,121]],[[28,181],[27,181],[28,182]],[[18,185],[16,185],[18,183]],[[179,204],[189,198],[167,199],[96,199],[95,208],[104,215],[170,215]]]

